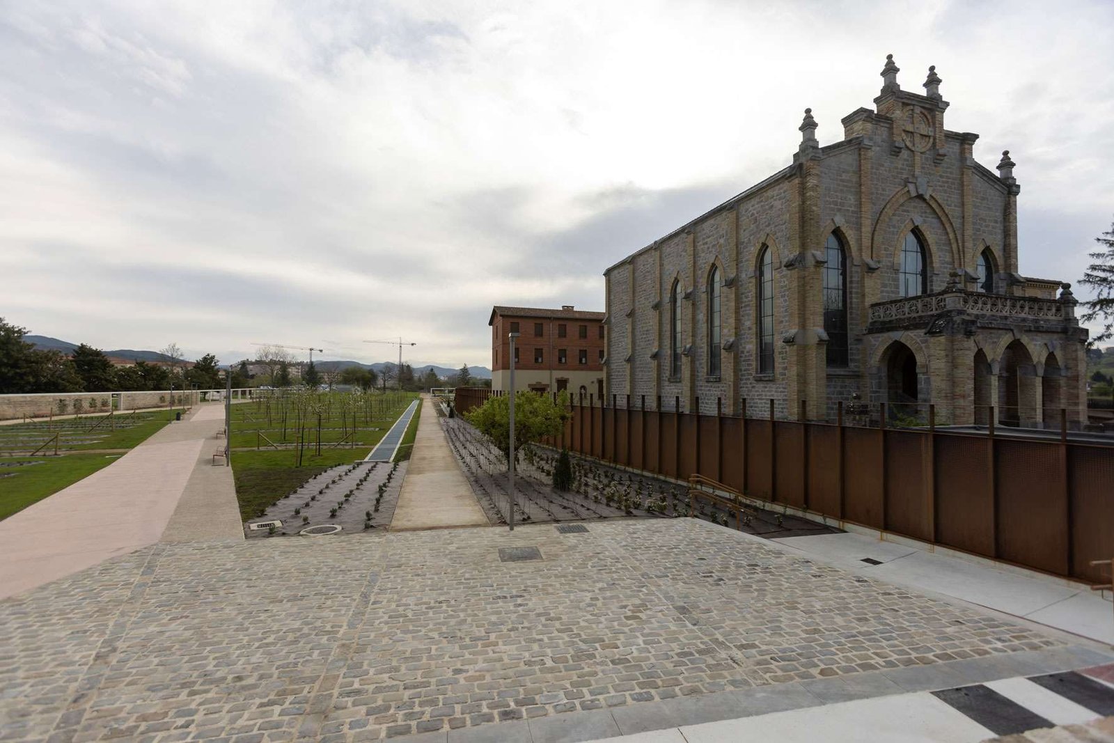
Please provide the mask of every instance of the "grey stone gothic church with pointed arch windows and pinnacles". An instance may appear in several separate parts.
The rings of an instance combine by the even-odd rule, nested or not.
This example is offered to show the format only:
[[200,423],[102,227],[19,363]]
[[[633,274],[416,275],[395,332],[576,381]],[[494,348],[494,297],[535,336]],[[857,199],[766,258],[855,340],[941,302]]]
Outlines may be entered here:
[[[1020,275],[1014,162],[975,160],[940,78],[820,146],[805,109],[793,163],[605,272],[606,388],[670,410],[836,416],[858,393],[939,424],[1058,428],[1086,417],[1068,284]],[[753,411],[754,408],[751,408]],[[754,412],[750,413],[755,414]],[[889,413],[889,414],[892,414]]]

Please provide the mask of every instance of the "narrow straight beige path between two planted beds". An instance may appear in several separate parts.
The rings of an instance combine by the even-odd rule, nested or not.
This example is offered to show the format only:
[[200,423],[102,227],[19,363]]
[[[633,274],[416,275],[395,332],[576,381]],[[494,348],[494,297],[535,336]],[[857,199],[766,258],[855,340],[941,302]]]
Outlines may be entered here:
[[391,531],[488,526],[483,509],[444,440],[430,397],[421,397],[418,437]]

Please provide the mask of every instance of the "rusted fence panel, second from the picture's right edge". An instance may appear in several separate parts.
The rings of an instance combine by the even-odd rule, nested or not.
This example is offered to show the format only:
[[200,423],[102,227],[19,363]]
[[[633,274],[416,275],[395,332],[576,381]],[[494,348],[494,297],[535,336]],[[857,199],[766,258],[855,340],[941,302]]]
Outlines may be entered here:
[[1067,492],[1061,444],[995,439],[998,557],[1067,575]]

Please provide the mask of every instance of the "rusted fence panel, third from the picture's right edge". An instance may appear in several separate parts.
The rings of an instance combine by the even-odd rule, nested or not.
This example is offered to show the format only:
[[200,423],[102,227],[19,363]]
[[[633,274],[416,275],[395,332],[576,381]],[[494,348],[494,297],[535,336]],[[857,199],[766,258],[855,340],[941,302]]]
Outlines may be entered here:
[[994,440],[937,436],[936,538],[940,544],[994,557]]

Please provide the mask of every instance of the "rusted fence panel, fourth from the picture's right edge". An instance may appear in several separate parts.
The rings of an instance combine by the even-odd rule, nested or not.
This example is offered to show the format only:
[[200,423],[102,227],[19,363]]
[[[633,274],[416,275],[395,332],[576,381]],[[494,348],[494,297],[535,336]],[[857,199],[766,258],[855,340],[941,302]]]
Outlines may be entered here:
[[925,541],[932,540],[930,436],[886,431],[886,528]]

